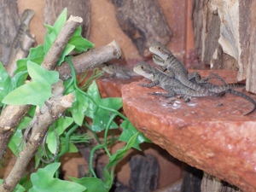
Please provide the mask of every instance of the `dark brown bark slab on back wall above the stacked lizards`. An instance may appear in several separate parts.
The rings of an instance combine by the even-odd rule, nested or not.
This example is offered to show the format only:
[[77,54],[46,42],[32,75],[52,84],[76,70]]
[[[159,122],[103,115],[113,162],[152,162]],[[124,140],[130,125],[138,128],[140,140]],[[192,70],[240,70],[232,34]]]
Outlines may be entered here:
[[163,44],[170,40],[172,32],[157,1],[112,0],[112,3],[117,10],[119,26],[140,55],[148,57],[148,47],[155,40]]

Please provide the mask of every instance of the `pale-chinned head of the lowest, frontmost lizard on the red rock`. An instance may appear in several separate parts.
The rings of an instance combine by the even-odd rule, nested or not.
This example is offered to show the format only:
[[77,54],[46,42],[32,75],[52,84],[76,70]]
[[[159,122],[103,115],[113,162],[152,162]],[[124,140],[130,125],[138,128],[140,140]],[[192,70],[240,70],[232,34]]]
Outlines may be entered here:
[[137,65],[133,67],[133,71],[147,79],[152,79],[154,77],[154,67],[151,67],[144,61],[137,63]]

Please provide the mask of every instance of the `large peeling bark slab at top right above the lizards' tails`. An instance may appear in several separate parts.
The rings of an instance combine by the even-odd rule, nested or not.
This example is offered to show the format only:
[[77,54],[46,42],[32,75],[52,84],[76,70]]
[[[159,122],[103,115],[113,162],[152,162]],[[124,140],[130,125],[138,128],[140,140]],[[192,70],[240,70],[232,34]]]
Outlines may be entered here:
[[256,3],[252,0],[193,1],[195,49],[211,69],[237,70],[256,93]]

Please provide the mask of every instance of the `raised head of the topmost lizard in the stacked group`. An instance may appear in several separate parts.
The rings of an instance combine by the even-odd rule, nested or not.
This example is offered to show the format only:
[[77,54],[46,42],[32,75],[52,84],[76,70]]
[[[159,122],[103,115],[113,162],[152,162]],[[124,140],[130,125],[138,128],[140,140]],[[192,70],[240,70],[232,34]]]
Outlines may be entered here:
[[166,61],[170,54],[172,55],[170,49],[168,49],[166,45],[161,44],[158,41],[154,42],[154,44],[151,44],[151,46],[149,47],[149,51],[155,55],[160,56],[160,58],[162,58],[162,60],[164,61]]

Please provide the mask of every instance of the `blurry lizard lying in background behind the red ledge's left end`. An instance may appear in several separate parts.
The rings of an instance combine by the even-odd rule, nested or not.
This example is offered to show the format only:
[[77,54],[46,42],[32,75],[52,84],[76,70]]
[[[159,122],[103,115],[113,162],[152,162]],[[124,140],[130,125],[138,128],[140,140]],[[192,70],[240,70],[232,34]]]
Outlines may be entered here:
[[120,79],[131,79],[131,76],[137,76],[137,73],[134,73],[130,68],[128,67],[122,67],[118,64],[104,64],[104,67],[102,67],[102,70],[105,73],[110,74],[110,77],[117,77]]

